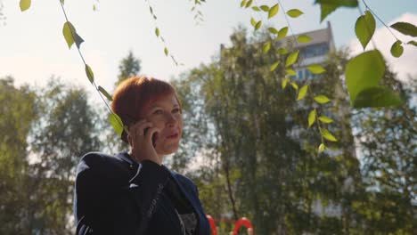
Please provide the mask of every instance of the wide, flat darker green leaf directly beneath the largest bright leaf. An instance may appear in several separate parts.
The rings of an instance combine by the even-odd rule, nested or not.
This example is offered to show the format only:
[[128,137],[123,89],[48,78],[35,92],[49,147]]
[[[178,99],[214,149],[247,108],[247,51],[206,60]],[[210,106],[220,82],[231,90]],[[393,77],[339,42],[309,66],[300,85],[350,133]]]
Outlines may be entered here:
[[355,108],[388,107],[403,104],[399,95],[385,86],[372,86],[358,93],[354,102]]

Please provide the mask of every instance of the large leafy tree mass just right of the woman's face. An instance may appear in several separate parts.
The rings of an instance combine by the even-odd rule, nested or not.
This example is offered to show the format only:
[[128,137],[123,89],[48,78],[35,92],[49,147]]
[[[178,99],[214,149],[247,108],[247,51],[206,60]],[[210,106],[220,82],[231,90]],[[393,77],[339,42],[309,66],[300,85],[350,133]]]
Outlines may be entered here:
[[[200,146],[204,150],[201,158],[210,159],[211,164],[211,170],[202,167],[200,174],[197,170],[195,180],[204,190],[221,191],[217,190],[221,184],[226,190],[216,195],[206,191],[210,196],[201,196],[208,213],[247,216],[261,234],[347,230],[351,225],[342,222],[352,219],[348,197],[355,195],[345,184],[353,181],[356,188],[361,184],[359,164],[352,152],[349,110],[331,117],[339,124],[333,129],[343,145],[330,144],[329,150],[336,152],[332,156],[318,155],[309,143],[319,141],[320,135],[302,131],[313,104],[307,100],[295,103],[292,97],[297,93],[292,87],[282,90],[286,55],[262,53],[259,47],[270,40],[267,36],[248,38],[246,31],[238,30],[231,40],[233,45],[223,48],[217,61],[192,69],[177,82],[182,100],[190,104],[185,105],[189,108],[185,110],[185,126],[201,126],[194,130],[197,135],[185,135],[184,142]],[[270,46],[270,51],[276,49],[275,44]],[[271,72],[271,61],[282,61],[282,66]],[[347,53],[334,55],[326,66],[329,76],[312,81],[335,99],[317,112],[324,115],[347,107],[347,94],[339,81],[346,63]],[[192,109],[194,105],[196,109]],[[229,199],[229,205],[221,207],[225,210],[218,208],[218,200],[214,206],[220,198]],[[319,199],[323,204],[344,203],[343,218],[315,215],[313,204]]]

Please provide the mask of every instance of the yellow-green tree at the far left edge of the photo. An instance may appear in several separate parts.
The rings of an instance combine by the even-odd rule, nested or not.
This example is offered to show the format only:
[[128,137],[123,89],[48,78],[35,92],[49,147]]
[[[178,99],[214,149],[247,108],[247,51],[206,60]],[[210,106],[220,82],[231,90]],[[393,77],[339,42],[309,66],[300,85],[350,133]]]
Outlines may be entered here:
[[36,95],[28,85],[0,79],[0,233],[26,233],[25,174],[28,174],[29,130],[37,119]]

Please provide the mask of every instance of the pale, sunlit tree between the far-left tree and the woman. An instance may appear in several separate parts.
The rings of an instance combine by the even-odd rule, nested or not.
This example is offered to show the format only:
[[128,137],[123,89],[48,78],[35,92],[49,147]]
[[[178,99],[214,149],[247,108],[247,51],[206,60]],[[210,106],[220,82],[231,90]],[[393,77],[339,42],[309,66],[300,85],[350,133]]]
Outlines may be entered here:
[[30,151],[34,163],[26,175],[30,232],[70,234],[75,167],[88,151],[100,150],[100,117],[87,101],[84,89],[52,78],[37,100],[43,118],[32,130]]

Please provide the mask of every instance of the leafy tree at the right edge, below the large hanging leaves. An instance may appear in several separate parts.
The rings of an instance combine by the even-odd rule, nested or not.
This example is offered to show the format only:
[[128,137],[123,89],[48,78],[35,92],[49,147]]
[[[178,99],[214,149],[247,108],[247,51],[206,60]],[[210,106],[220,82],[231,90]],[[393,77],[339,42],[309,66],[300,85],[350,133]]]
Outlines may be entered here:
[[398,109],[356,112],[356,138],[363,154],[367,199],[358,204],[369,234],[413,234],[417,229],[417,79],[408,84],[388,71],[385,81],[396,87],[405,103]]

